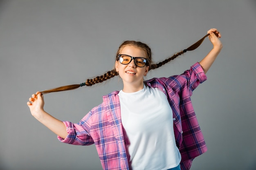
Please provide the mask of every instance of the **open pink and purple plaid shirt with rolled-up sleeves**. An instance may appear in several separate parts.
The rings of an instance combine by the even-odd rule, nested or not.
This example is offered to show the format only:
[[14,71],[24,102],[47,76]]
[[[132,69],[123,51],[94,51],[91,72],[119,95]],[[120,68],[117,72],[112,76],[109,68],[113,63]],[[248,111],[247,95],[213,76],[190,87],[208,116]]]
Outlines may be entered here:
[[[191,103],[193,90],[207,79],[199,63],[182,75],[147,80],[148,86],[161,89],[173,110],[176,145],[182,156],[181,169],[189,170],[192,160],[207,151]],[[95,144],[104,170],[129,170],[121,122],[118,91],[103,96],[103,103],[93,108],[78,124],[63,121],[68,135],[58,139],[67,144]]]

